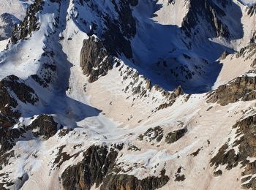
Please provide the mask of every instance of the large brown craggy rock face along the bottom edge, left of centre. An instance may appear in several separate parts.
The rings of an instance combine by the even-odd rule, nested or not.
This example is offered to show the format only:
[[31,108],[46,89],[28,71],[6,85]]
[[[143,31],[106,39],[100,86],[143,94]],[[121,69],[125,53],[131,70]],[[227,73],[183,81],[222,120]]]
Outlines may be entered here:
[[92,145],[83,155],[83,160],[76,165],[67,167],[61,175],[64,189],[91,189],[95,186],[101,190],[109,189],[158,189],[164,186],[169,177],[162,170],[159,177],[148,176],[142,180],[133,175],[115,174],[115,163],[118,151],[123,145],[108,146]]

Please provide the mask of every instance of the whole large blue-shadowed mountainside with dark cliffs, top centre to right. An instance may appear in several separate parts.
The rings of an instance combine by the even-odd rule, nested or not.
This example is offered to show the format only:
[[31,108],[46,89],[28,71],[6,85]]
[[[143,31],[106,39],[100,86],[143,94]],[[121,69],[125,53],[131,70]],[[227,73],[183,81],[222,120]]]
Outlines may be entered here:
[[[183,6],[187,7],[187,12],[182,10],[182,13],[176,15],[175,12],[171,16],[184,17],[179,28],[162,27],[151,19],[159,18],[158,11],[164,14],[159,6],[164,6],[163,9],[179,9],[182,2],[103,3],[109,12],[105,12],[97,2],[86,1],[82,7],[79,7],[79,1],[73,1],[73,4],[75,8],[71,18],[81,20],[75,23],[89,37],[95,34],[110,55],[118,58],[125,56],[129,64],[152,83],[160,83],[171,90],[182,86],[187,93],[206,92],[214,85],[214,77],[217,77],[221,66],[213,61],[224,50],[233,52],[230,48],[233,41],[244,35],[239,21],[242,18],[241,8],[233,1],[186,1]],[[91,18],[83,18],[81,11],[88,13]],[[92,12],[96,16],[91,15]],[[232,14],[236,15],[236,19],[233,19]],[[164,22],[168,23],[168,20],[173,18],[167,17]],[[162,36],[166,36],[170,42]],[[196,56],[189,53],[192,48],[197,52]],[[154,53],[150,50],[154,50]],[[204,50],[207,53],[201,53]],[[89,80],[92,81],[91,78]]]

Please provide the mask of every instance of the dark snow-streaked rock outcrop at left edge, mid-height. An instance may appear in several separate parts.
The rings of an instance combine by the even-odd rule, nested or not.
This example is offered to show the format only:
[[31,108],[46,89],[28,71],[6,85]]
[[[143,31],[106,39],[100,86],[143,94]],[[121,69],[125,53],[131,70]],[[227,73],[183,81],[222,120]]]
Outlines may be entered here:
[[12,126],[20,117],[21,113],[17,110],[20,103],[18,101],[36,104],[39,98],[20,78],[15,75],[5,77],[0,81],[0,126]]

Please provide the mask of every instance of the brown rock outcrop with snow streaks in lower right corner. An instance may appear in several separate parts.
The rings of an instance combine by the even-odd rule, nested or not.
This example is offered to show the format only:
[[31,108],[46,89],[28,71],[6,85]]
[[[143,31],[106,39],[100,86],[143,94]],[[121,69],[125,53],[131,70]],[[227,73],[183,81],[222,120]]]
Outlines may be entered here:
[[[252,113],[254,112],[255,110],[252,111]],[[219,165],[225,165],[227,170],[231,170],[241,164],[241,167],[244,168],[244,172],[241,173],[243,188],[255,189],[256,178],[253,175],[256,173],[256,161],[250,161],[249,158],[256,157],[256,115],[251,114],[241,118],[232,130],[236,131],[235,140],[229,138],[219,148],[216,156],[211,159],[211,166],[216,169]]]

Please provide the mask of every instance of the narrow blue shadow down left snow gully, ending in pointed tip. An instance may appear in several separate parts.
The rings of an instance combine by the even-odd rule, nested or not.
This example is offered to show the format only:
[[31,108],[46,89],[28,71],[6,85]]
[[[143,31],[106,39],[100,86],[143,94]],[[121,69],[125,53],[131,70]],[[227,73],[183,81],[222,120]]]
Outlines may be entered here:
[[[67,11],[65,10],[67,10],[68,5],[67,3],[61,4],[60,14],[62,15],[60,18],[66,18]],[[31,88],[34,88],[34,91],[36,91],[40,102],[36,107],[31,107],[31,111],[23,112],[22,116],[32,117],[33,115],[39,114],[57,115],[61,124],[64,126],[78,127],[77,122],[85,118],[97,116],[102,111],[67,96],[72,64],[67,60],[67,55],[59,43],[59,34],[66,28],[66,20],[60,20],[59,26],[59,28],[56,28],[56,31],[53,31],[46,38],[45,43],[47,43],[48,47],[44,49],[45,52],[50,52],[53,55],[52,57],[49,56],[49,60],[56,65],[56,79],[50,82],[51,86],[49,88],[43,88],[39,86],[39,83],[29,77],[27,83],[32,84]],[[42,61],[48,61],[48,59],[43,59],[45,57],[42,56]],[[44,62],[40,64],[44,64]],[[40,72],[39,70],[37,75],[40,75]]]

